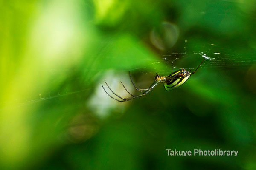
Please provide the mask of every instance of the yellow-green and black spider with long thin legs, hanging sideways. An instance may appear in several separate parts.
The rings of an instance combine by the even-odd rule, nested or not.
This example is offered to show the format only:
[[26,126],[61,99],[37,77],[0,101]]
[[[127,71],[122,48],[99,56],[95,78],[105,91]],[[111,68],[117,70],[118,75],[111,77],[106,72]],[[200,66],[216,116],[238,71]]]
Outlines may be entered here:
[[[206,58],[204,58],[205,60]],[[111,95],[108,94],[108,92],[105,90],[105,88],[103,87],[102,85],[102,88],[104,89],[104,91],[106,92],[106,94],[108,94],[108,96],[110,96],[112,99],[115,99],[116,101],[118,102],[126,102],[126,101],[129,101],[131,99],[136,99],[136,98],[139,98],[139,97],[142,97],[142,96],[145,96],[146,94],[148,94],[154,87],[157,86],[158,83],[160,82],[163,82],[163,86],[164,88],[169,91],[169,90],[172,90],[172,89],[175,89],[177,87],[179,87],[180,85],[183,85],[184,82],[186,82],[189,77],[194,74],[198,68],[203,64],[204,60],[201,62],[200,65],[198,65],[198,67],[195,69],[195,71],[193,71],[192,73],[190,71],[186,71],[184,68],[178,70],[178,71],[175,71],[174,73],[171,72],[171,74],[169,76],[160,76],[159,74],[157,74],[155,77],[154,77],[154,82],[153,84],[149,87],[149,88],[145,88],[145,89],[141,89],[141,88],[137,88],[135,85],[134,85],[134,82],[132,81],[131,79],[131,74],[130,74],[130,71],[129,71],[129,75],[130,75],[130,79],[131,79],[131,83],[132,85],[134,86],[134,88],[137,90],[137,91],[144,91],[143,93],[139,94],[139,95],[136,95],[134,96],[133,94],[131,94],[124,86],[124,84],[122,83],[121,81],[121,84],[122,86],[125,88],[125,90],[128,92],[128,94],[131,95],[131,97],[128,97],[128,98],[122,98],[120,96],[118,96],[117,94],[115,94],[111,88],[108,86],[108,83],[106,81],[104,81],[106,83],[106,85],[108,86],[109,90],[114,94],[116,95],[117,97],[119,97],[120,99],[116,99],[114,97],[112,97]],[[172,68],[173,68],[173,62],[172,62]]]

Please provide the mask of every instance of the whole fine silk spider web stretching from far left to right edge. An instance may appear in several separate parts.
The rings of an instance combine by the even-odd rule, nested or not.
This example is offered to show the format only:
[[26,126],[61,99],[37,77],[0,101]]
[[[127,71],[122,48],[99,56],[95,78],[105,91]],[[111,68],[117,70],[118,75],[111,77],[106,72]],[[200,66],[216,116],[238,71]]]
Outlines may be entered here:
[[[201,69],[210,69],[210,68],[246,68],[256,64],[256,53],[251,50],[244,51],[230,51],[227,48],[220,48],[216,44],[208,44],[208,45],[197,45],[194,46],[197,49],[202,49],[201,51],[188,49],[185,44],[182,52],[166,52],[166,54],[160,55],[159,59],[148,59],[150,60],[149,64],[139,66],[134,69],[122,70],[119,71],[123,76],[131,71],[131,73],[140,73],[140,74],[149,74],[150,76],[158,73],[161,75],[169,75],[172,69],[172,62],[174,63],[173,69],[178,70],[181,68],[185,68],[186,70],[195,70],[198,65],[201,63],[202,59],[206,58],[203,65],[201,65]],[[145,63],[147,59],[144,59]],[[148,62],[147,62],[148,63]],[[193,63],[193,64],[192,64]],[[106,72],[107,70],[103,70]],[[112,76],[115,74],[113,73]],[[119,75],[119,79],[122,78]],[[102,79],[101,83],[104,79]],[[127,84],[129,83],[129,79],[127,79]],[[116,81],[118,83],[118,81]],[[41,95],[36,94],[32,98],[26,98],[23,101],[20,101],[20,105],[28,105],[36,102],[42,102],[49,99],[54,99],[63,96],[76,95],[79,93],[86,93],[86,91],[91,91],[93,88],[84,88],[78,91],[61,91],[58,94],[47,94]]]

